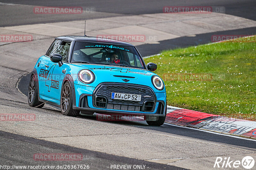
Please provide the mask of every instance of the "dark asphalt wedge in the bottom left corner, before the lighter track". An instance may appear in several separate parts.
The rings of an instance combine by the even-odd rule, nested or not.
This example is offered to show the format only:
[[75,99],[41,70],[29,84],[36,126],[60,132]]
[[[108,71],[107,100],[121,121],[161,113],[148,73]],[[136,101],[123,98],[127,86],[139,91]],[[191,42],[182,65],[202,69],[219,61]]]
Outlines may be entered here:
[[[0,131],[1,153],[0,165],[30,165],[58,166],[67,164],[66,161],[31,160],[31,153],[81,153],[86,157],[83,161],[69,161],[69,165],[89,165],[90,169],[110,169],[111,165],[145,165],[146,169],[184,169],[175,166],[157,164],[139,159],[126,158],[107,153],[61,145],[54,142],[29,138],[22,135]],[[19,147],[17,147],[19,146]],[[26,148],[29,148],[26,149]]]

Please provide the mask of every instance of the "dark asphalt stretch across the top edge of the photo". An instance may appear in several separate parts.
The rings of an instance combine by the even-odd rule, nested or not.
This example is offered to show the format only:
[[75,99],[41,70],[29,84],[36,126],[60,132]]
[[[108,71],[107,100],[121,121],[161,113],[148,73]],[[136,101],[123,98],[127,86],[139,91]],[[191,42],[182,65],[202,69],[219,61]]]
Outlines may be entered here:
[[[94,0],[94,1],[72,1],[70,0],[44,0],[44,1],[30,1],[30,0],[2,0],[2,3],[8,4],[22,4],[23,6],[17,7],[5,7],[1,8],[1,18],[9,18],[8,20],[0,21],[0,26],[14,26],[14,25],[26,25],[37,23],[50,23],[60,21],[73,21],[83,19],[94,18],[106,18],[112,16],[122,15],[138,15],[138,14],[152,14],[162,13],[164,6],[224,6],[226,14],[235,15],[243,18],[255,20],[256,1],[254,0]],[[26,6],[25,6],[26,5]],[[29,5],[29,6],[28,6]],[[84,14],[65,14],[65,15],[35,15],[30,6],[82,6],[94,7],[96,12],[102,12],[102,14],[96,15],[95,13]],[[16,11],[10,11],[9,8],[16,8]],[[33,9],[33,8],[32,8]]]

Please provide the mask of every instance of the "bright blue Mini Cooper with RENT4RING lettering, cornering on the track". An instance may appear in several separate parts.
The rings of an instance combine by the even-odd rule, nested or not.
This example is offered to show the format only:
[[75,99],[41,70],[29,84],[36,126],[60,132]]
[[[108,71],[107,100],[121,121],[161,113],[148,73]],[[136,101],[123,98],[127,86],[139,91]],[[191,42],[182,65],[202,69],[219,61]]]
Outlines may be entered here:
[[67,116],[100,113],[144,116],[161,126],[166,117],[166,90],[130,43],[88,36],[55,38],[33,69],[28,104],[60,107]]

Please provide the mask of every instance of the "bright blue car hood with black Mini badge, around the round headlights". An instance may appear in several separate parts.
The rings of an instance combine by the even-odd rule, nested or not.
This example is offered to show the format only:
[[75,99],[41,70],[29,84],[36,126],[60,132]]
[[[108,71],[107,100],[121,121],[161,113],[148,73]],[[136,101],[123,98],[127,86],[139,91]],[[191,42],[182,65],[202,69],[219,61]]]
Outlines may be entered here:
[[89,64],[72,64],[72,66],[72,73],[78,73],[82,69],[88,69],[95,75],[95,80],[91,84],[84,84],[77,77],[74,77],[75,84],[96,87],[101,82],[131,83],[149,86],[156,92],[165,92],[165,89],[159,91],[153,86],[151,78],[157,74],[148,70]]

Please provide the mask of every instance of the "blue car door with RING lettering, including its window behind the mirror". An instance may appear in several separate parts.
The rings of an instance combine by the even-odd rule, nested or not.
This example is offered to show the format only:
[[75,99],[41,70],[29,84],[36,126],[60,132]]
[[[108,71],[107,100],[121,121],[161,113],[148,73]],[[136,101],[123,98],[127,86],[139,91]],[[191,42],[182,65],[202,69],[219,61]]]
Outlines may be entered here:
[[46,78],[46,87],[47,87],[47,96],[56,100],[60,100],[60,91],[62,81],[65,77],[65,73],[68,64],[68,52],[70,48],[71,42],[69,41],[61,41],[59,46],[56,48],[55,54],[60,54],[62,56],[63,65],[60,67],[58,63],[54,63],[49,60],[49,74]]

